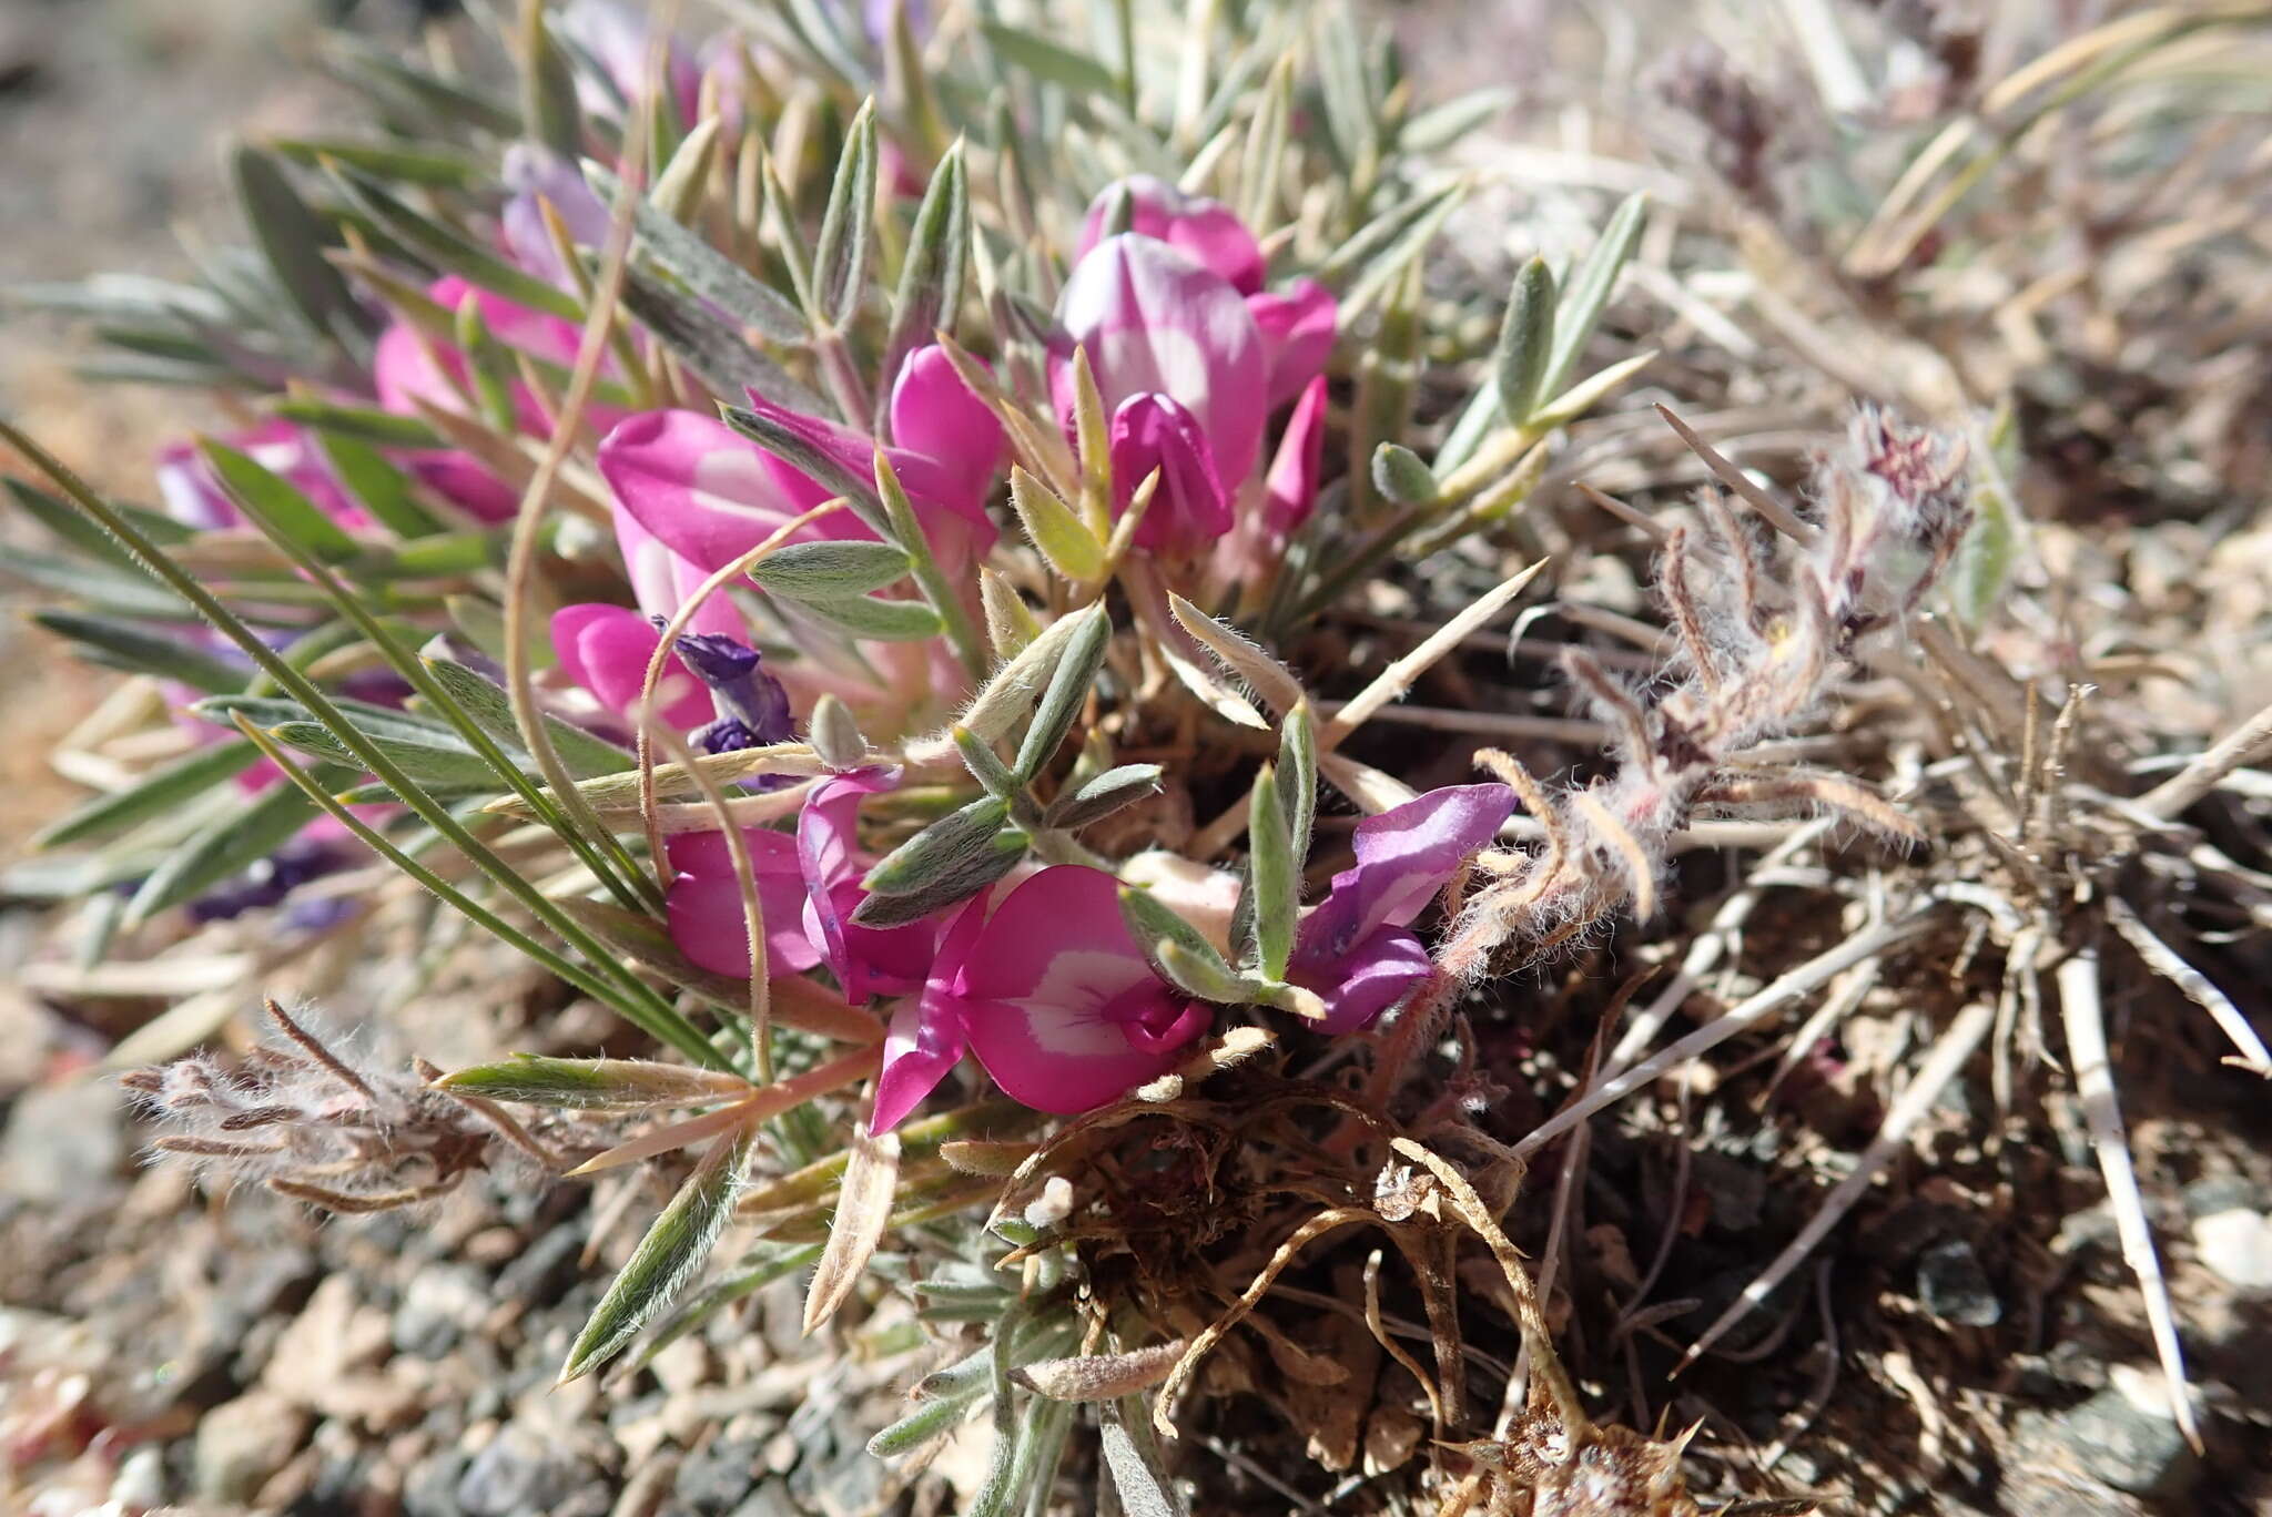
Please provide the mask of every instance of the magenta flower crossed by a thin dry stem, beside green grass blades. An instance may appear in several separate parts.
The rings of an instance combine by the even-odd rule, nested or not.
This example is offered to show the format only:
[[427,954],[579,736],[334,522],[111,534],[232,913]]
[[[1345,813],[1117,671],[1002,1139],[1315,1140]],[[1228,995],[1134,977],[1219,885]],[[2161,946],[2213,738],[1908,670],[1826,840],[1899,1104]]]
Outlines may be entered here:
[[[866,899],[857,849],[859,804],[900,783],[897,770],[834,774],[804,797],[797,836],[745,829],[757,895],[766,911],[768,974],[827,965],[852,1004],[877,995],[911,995],[932,970],[941,924],[859,927],[850,917]],[[750,974],[750,933],[725,833],[682,833],[666,843],[679,872],[666,895],[670,940],[716,974]]]

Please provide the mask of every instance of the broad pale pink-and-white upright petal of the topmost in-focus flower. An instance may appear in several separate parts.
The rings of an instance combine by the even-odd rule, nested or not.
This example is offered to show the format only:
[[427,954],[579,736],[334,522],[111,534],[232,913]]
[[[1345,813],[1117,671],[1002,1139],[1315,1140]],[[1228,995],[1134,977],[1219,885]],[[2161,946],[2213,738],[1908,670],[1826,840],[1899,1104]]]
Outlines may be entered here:
[[[1066,279],[1059,320],[1088,352],[1106,407],[1145,391],[1172,397],[1206,434],[1225,493],[1245,481],[1261,452],[1268,368],[1247,302],[1222,275],[1154,236],[1111,236]],[[1070,382],[1054,384],[1070,416]]]

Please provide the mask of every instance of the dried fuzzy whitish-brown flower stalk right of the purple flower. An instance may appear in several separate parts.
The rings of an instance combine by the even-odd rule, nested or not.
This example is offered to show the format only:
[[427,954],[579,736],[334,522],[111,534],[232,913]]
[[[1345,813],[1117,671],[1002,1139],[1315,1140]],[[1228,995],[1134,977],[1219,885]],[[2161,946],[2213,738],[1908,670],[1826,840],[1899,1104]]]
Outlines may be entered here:
[[1949,565],[1972,506],[1963,445],[1863,407],[1815,472],[1813,520],[1763,491],[1745,500],[1797,545],[1761,543],[1715,491],[1697,522],[1659,534],[1656,593],[1679,636],[1661,690],[1618,681],[1581,649],[1563,670],[1613,734],[1618,770],[1550,795],[1509,754],[1477,763],[1522,797],[1540,852],[1486,852],[1490,877],[1443,954],[1452,977],[1486,970],[1504,942],[1547,952],[1622,906],[1656,908],[1672,833],[1697,813],[1822,806],[1858,827],[1915,840],[1918,827],[1843,774],[1745,763],[1743,752],[1804,720],[1856,643],[1899,622]]

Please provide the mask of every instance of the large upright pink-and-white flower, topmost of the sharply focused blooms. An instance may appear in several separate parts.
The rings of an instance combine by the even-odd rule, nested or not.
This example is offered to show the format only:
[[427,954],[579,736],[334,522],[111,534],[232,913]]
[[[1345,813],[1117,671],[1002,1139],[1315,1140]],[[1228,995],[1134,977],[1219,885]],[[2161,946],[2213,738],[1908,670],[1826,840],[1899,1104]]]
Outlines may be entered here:
[[[1059,300],[1066,347],[1052,386],[1070,418],[1070,350],[1086,350],[1111,411],[1116,509],[1159,470],[1136,543],[1188,556],[1236,527],[1270,413],[1318,379],[1334,347],[1336,302],[1309,279],[1261,291],[1261,250],[1227,207],[1156,179],[1131,179],[1129,193],[1134,232],[1095,241],[1109,200],[1091,207]],[[1315,497],[1315,466],[1304,463],[1322,407],[1318,395],[1279,438],[1272,522],[1297,522]]]

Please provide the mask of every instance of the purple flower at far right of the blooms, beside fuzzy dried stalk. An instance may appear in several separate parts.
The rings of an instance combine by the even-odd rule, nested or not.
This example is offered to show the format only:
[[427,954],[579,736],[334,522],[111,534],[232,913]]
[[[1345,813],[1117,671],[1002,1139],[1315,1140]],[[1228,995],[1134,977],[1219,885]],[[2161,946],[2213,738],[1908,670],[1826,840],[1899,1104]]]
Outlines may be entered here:
[[1286,974],[1325,997],[1318,1031],[1354,1033],[1434,972],[1406,922],[1513,813],[1506,786],[1445,786],[1356,824],[1356,863],[1304,917]]

